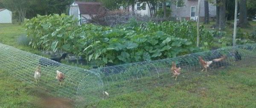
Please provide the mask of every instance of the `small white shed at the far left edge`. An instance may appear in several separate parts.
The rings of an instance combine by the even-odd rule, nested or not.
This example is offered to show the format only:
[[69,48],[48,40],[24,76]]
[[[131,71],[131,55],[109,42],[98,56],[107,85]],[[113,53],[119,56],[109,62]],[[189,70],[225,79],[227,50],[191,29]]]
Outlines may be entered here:
[[0,9],[0,23],[12,23],[12,11],[6,8]]

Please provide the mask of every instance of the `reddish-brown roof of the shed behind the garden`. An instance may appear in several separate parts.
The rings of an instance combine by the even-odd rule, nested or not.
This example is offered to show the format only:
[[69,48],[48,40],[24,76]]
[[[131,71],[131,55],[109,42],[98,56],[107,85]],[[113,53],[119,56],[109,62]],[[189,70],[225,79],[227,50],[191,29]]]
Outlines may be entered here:
[[102,4],[99,2],[75,2],[79,6],[80,14],[98,14]]

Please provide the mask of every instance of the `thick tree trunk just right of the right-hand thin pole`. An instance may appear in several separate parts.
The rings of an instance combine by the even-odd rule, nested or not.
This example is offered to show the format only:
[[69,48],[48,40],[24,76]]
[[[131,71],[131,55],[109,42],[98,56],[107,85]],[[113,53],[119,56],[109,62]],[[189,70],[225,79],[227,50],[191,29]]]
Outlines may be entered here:
[[246,0],[240,0],[239,2],[239,23],[238,26],[245,28],[249,25],[247,19],[247,8],[246,8]]

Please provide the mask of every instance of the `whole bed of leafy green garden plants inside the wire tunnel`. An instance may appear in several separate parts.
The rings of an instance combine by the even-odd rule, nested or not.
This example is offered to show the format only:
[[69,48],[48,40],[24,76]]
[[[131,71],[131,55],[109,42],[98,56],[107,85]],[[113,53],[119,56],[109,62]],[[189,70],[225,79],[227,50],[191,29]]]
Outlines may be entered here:
[[201,26],[201,49],[196,46],[196,28],[190,22],[137,22],[114,28],[84,24],[73,17],[40,16],[25,23],[33,48],[64,50],[89,64],[124,64],[172,58],[209,49],[216,32]]

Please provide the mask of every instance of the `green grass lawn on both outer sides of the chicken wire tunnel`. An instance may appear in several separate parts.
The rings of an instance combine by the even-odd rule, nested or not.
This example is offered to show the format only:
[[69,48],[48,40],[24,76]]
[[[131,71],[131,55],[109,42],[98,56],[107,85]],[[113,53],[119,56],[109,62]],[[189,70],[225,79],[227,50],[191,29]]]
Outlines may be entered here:
[[[0,43],[40,55],[40,51],[17,43],[17,38],[24,33],[21,25],[0,24]],[[209,72],[191,72],[192,77],[181,73],[177,81],[174,81],[169,74],[163,75],[164,80],[145,78],[143,79],[144,85],[141,83],[136,85],[136,88],[141,86],[141,89],[133,91],[133,88],[126,88],[124,91],[129,92],[120,95],[109,92],[109,98],[100,99],[84,107],[254,108],[256,106],[256,67],[254,64],[253,61],[250,63],[244,61],[223,69],[211,69]],[[154,85],[157,81],[161,83]],[[148,88],[143,88],[145,86]],[[34,86],[0,69],[0,108],[38,108],[40,106],[35,103],[38,99]]]

